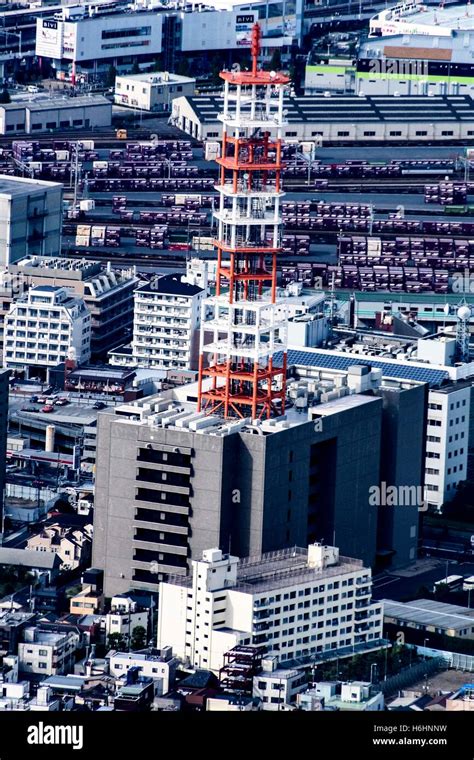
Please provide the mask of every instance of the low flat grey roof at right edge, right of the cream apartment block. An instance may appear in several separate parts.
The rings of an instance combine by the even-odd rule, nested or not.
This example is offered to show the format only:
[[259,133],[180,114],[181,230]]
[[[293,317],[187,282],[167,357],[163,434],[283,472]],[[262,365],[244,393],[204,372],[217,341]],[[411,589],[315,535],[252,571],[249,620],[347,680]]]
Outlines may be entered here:
[[421,626],[461,630],[474,626],[474,609],[444,604],[434,599],[416,599],[413,602],[383,600],[384,617],[407,620]]

